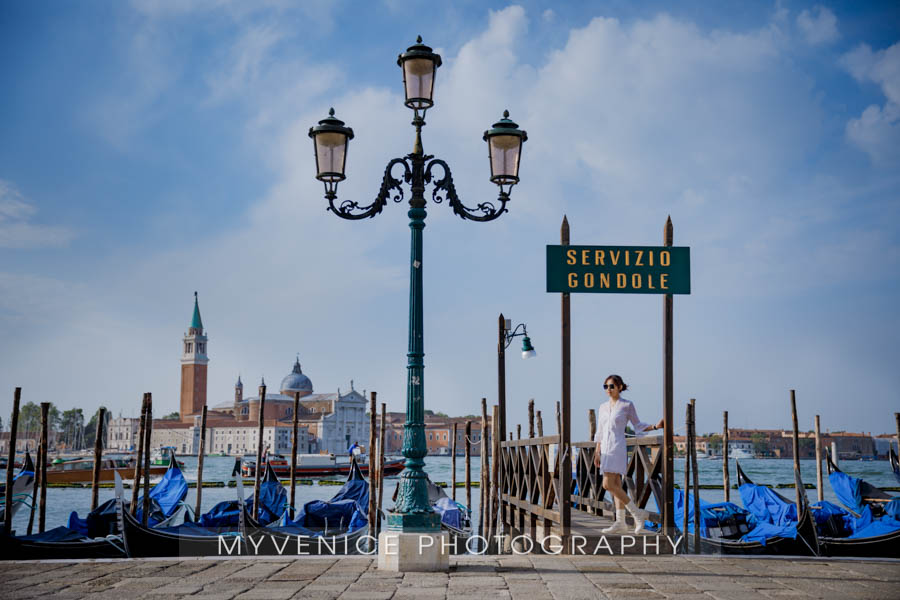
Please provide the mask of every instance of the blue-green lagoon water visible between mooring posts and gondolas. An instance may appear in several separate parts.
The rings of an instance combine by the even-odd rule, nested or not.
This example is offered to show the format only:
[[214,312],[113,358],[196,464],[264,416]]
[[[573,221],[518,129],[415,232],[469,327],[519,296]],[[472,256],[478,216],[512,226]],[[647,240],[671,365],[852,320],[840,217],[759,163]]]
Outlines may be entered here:
[[[193,456],[185,456],[179,458],[184,462],[184,475],[188,481],[196,481],[197,479],[197,458]],[[428,472],[432,481],[443,481],[449,485],[451,479],[451,458],[449,456],[428,456],[426,457],[425,470]],[[204,461],[203,480],[204,481],[228,481],[231,479],[231,470],[234,466],[234,459],[230,457],[207,457]],[[699,459],[699,480],[700,485],[721,485],[722,484],[722,461],[718,459]],[[854,477],[865,479],[876,487],[896,486],[897,481],[894,479],[891,467],[888,461],[843,461],[840,465],[841,470]],[[754,483],[772,484],[793,483],[794,469],[793,462],[790,459],[746,459],[741,460],[741,468],[750,477]],[[824,468],[824,465],[823,465]],[[807,484],[816,483],[816,461],[801,460],[800,471],[803,482]],[[2,477],[5,480],[5,471]],[[481,480],[481,460],[479,457],[472,457],[471,478],[473,482]],[[731,483],[737,483],[737,472],[734,468],[734,461],[731,461]],[[831,486],[828,483],[828,475],[823,474],[825,499],[840,505]],[[334,478],[337,479],[337,478]],[[456,457],[456,479],[457,482],[465,481],[465,458]],[[693,479],[693,478],[692,478]],[[386,478],[384,491],[384,508],[388,509],[393,506],[391,495],[394,492],[397,477]],[[684,483],[684,460],[675,459],[675,482],[678,485]],[[337,492],[336,486],[316,485],[298,485],[297,486],[297,506],[301,506],[310,500],[324,500],[333,496]],[[245,490],[249,495],[250,488]],[[794,498],[794,490],[784,488],[778,490],[788,499]],[[446,492],[452,496],[452,491],[447,488]],[[700,497],[710,502],[721,502],[724,500],[723,490],[700,490]],[[479,507],[480,489],[472,488],[472,518],[477,523],[480,515]],[[816,491],[807,490],[807,495],[811,502],[817,499]],[[114,497],[112,489],[101,489],[99,493],[100,502]],[[204,488],[203,489],[203,505],[202,511],[208,511],[213,505],[223,500],[233,500],[237,497],[236,488]],[[131,490],[126,490],[126,498],[131,498]],[[190,506],[196,504],[196,489],[188,490],[186,501]],[[464,488],[457,488],[456,501],[466,503],[466,491]],[[731,501],[741,504],[740,494],[737,490],[731,490]],[[51,529],[59,525],[65,525],[69,518],[69,513],[73,510],[84,517],[90,510],[91,490],[89,488],[50,488],[47,490],[47,521],[46,528]],[[649,508],[653,509],[653,501],[651,500]],[[35,516],[35,530],[37,525],[37,516]],[[26,508],[21,509],[13,520],[13,527],[24,532],[28,526],[28,511]]]

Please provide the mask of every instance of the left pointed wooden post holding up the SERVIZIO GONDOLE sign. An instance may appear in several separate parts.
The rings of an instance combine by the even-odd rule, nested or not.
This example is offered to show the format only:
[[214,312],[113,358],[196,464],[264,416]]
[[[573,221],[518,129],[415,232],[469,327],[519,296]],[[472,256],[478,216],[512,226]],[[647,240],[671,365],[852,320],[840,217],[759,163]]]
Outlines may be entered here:
[[[569,245],[569,220],[563,216],[560,227],[560,245]],[[559,452],[562,456],[559,472],[560,533],[563,548],[569,547],[572,523],[572,456],[569,447],[572,442],[572,315],[570,294],[561,294],[562,319],[562,414],[560,419]]]

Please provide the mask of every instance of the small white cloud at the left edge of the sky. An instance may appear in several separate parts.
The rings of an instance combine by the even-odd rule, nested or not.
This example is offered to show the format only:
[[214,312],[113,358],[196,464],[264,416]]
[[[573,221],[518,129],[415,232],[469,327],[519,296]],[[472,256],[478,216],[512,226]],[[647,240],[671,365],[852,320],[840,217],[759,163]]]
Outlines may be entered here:
[[32,223],[36,213],[13,184],[0,179],[0,248],[60,247],[75,237],[66,227]]

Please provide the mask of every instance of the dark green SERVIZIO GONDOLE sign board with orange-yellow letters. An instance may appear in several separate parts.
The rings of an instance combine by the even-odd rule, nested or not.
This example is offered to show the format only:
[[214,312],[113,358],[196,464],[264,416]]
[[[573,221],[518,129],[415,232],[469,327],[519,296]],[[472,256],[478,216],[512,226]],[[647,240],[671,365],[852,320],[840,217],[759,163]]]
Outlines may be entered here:
[[690,294],[686,246],[547,246],[547,291]]

